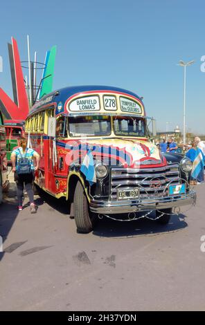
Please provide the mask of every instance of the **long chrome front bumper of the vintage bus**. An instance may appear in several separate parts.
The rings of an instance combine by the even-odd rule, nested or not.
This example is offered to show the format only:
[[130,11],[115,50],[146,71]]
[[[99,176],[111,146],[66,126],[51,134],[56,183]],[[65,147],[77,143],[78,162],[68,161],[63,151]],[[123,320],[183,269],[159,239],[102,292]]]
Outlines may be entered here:
[[124,214],[150,210],[163,210],[183,205],[193,205],[196,202],[196,192],[190,190],[187,194],[174,197],[146,198],[127,201],[96,201],[89,204],[91,212],[98,214]]

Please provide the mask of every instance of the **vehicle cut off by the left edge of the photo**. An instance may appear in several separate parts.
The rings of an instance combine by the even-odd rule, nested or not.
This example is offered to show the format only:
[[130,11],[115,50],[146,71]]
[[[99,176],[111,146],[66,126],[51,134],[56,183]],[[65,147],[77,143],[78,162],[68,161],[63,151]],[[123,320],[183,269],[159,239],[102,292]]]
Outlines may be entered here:
[[3,191],[8,189],[7,159],[6,159],[6,136],[3,126],[3,115],[0,111],[0,204],[3,200]]

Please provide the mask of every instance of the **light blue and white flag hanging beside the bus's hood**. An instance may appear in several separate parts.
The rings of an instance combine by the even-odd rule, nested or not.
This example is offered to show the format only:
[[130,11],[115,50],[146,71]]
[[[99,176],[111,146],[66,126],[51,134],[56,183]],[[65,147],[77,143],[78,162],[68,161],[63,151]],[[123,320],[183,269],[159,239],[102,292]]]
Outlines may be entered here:
[[82,165],[80,167],[80,171],[86,177],[86,180],[89,182],[89,185],[93,185],[96,183],[96,171],[93,161],[93,155],[91,150],[87,152],[87,155],[84,157]]

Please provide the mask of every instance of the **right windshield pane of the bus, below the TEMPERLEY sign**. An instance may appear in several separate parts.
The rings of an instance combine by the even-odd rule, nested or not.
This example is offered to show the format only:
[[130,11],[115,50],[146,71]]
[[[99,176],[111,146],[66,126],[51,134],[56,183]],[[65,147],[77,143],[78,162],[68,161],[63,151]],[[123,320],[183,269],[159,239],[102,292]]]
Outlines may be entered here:
[[145,136],[145,121],[132,116],[116,116],[114,133],[116,136]]

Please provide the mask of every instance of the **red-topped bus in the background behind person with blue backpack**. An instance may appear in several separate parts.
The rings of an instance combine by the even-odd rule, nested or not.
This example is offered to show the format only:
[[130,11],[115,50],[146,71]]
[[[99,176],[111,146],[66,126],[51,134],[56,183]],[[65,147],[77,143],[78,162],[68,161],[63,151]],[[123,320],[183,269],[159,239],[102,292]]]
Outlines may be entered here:
[[23,120],[4,120],[4,127],[6,129],[6,156],[8,163],[10,163],[10,155],[12,150],[17,147],[17,140],[20,136],[25,136]]

